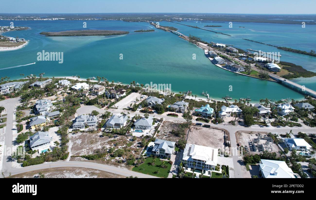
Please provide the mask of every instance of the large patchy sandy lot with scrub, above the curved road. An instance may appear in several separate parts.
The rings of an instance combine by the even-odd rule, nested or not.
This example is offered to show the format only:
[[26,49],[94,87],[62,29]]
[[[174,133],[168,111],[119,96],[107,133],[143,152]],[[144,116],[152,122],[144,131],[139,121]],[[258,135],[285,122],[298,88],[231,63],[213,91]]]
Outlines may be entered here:
[[[114,147],[114,151],[117,149],[125,149],[126,155],[123,157],[111,157],[111,153],[108,153],[104,159],[87,160],[81,157],[69,157],[70,161],[88,161],[100,164],[107,164],[111,166],[118,166],[120,168],[129,169],[130,166],[125,164],[126,157],[133,154],[135,158],[139,158],[143,147],[140,147],[139,142],[141,139],[137,138],[136,141],[132,141],[132,137],[115,135],[115,138],[100,137],[101,133],[76,133],[69,134],[69,149],[70,156],[88,155],[94,154],[95,150]],[[130,147],[127,147],[129,146]]]

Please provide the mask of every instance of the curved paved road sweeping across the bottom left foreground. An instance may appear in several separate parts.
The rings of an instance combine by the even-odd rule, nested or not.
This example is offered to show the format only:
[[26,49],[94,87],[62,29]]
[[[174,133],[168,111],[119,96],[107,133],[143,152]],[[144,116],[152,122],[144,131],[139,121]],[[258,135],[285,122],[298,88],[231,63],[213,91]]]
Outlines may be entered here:
[[118,167],[102,165],[99,163],[92,163],[92,162],[81,162],[81,161],[60,161],[60,162],[44,163],[40,165],[22,167],[19,169],[12,168],[10,172],[11,172],[11,175],[15,175],[15,174],[20,174],[24,172],[30,172],[34,170],[42,170],[42,169],[54,168],[54,167],[85,167],[85,168],[90,168],[90,169],[102,170],[106,172],[112,172],[112,173],[116,173],[123,176],[137,176],[138,178],[158,178],[155,176],[133,172],[131,170],[122,169]]

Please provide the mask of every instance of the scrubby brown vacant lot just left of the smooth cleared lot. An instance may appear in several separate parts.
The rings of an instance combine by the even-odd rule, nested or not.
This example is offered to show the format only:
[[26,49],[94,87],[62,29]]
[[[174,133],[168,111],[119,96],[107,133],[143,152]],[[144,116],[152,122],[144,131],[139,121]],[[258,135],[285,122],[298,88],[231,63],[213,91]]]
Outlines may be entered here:
[[[177,142],[179,139],[181,139],[181,137],[175,136],[174,134],[171,133],[171,131],[173,129],[179,128],[180,124],[181,122],[174,122],[174,121],[165,119],[159,127],[159,133],[156,134],[156,138],[161,139],[161,140]],[[185,132],[185,135],[183,136],[183,138],[186,139],[188,128],[185,128],[184,132]]]

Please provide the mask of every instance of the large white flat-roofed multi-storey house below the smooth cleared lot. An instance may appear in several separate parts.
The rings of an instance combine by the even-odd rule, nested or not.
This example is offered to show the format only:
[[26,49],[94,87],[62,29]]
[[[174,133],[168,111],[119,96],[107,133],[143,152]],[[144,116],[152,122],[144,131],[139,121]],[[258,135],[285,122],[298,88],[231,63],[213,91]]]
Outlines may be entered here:
[[[215,170],[217,155],[218,150],[216,148],[186,144],[182,161],[186,161],[189,168],[194,167],[195,169],[203,169],[205,171]],[[195,162],[195,166],[193,166],[193,162]]]

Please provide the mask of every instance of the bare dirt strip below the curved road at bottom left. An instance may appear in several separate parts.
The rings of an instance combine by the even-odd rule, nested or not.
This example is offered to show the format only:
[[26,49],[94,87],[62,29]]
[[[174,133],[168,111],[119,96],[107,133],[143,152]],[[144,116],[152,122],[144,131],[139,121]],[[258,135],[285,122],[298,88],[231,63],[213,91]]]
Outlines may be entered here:
[[40,172],[45,175],[45,178],[125,178],[125,176],[113,174],[111,172],[82,167],[49,168],[17,174],[10,178],[39,178]]

